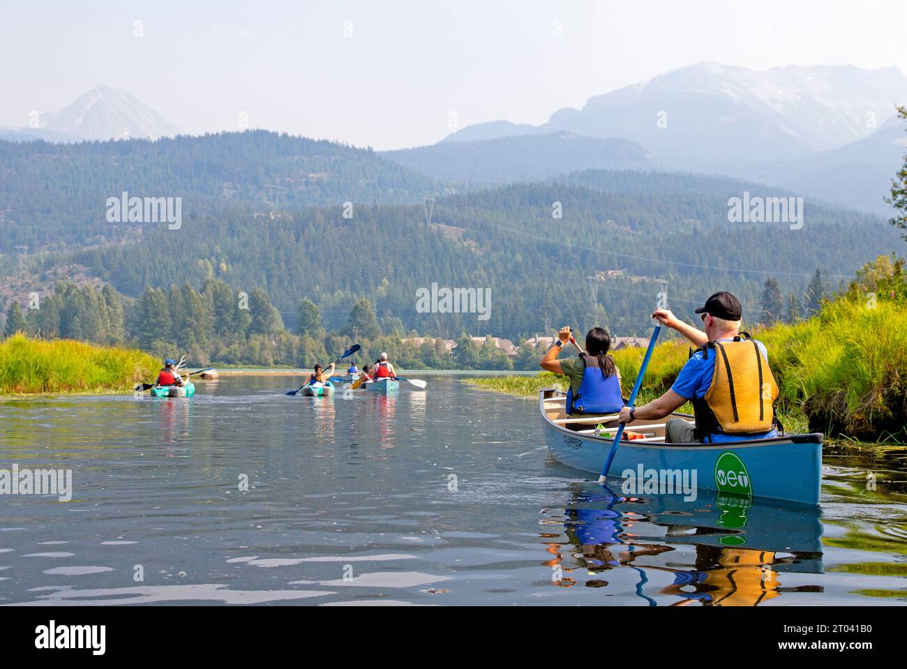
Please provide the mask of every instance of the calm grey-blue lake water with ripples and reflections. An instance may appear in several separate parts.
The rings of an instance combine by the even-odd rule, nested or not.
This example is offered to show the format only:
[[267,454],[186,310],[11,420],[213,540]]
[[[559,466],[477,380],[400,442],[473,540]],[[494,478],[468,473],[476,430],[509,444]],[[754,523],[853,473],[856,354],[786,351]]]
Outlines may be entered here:
[[0,497],[0,604],[907,601],[904,451],[829,449],[821,511],[719,525],[713,498],[623,499],[553,461],[536,402],[419,376],[391,397],[233,375],[191,400],[0,401],[0,469],[74,489]]

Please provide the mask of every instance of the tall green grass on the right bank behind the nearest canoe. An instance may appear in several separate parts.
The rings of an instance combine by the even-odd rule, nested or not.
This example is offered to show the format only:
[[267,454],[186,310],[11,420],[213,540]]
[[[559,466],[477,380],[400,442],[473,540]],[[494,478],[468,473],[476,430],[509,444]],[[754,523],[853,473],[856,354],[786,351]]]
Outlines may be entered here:
[[[753,329],[766,344],[780,389],[778,412],[788,431],[823,431],[860,441],[907,441],[907,283],[902,258],[879,257],[812,318]],[[658,344],[640,402],[664,393],[687,362],[686,340]],[[629,395],[645,353],[614,353]],[[566,378],[469,379],[478,387],[535,395]]]

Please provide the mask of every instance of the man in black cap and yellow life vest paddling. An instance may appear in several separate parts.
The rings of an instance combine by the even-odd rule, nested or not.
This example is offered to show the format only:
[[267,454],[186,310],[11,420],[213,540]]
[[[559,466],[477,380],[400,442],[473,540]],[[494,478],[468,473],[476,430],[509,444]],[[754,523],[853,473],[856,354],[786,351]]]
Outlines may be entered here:
[[658,420],[693,402],[696,424],[671,419],[665,425],[670,443],[726,443],[776,437],[778,386],[768,366],[766,346],[740,332],[740,301],[719,291],[696,309],[705,332],[683,323],[667,309],[653,318],[697,345],[677,381],[658,399],[620,410],[620,422]]

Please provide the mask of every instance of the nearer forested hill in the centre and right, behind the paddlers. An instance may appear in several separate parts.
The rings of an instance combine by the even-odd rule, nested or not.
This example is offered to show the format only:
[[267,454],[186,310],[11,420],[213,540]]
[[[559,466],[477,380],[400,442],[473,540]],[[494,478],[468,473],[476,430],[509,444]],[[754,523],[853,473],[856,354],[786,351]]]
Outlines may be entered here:
[[[331,326],[366,296],[401,331],[516,337],[539,331],[547,316],[550,324],[607,322],[630,335],[648,328],[662,286],[678,309],[733,290],[757,320],[767,278],[802,302],[817,267],[834,285],[898,244],[880,219],[812,202],[802,229],[730,223],[729,195],[777,195],[732,180],[589,172],[566,181],[439,199],[430,220],[423,205],[357,205],[348,219],[340,208],[296,209],[279,220],[233,207],[72,260],[129,296],[211,278],[247,292],[260,286],[288,324],[301,296]],[[489,288],[490,318],[418,313],[415,292],[433,283]]]

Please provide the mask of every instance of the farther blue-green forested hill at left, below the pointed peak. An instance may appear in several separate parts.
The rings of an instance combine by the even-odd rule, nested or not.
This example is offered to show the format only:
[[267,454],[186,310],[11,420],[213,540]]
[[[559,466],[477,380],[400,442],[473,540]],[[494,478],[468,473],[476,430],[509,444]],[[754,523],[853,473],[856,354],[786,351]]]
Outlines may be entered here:
[[[159,141],[0,141],[0,253],[120,242],[107,199],[181,198],[183,216],[246,203],[268,213],[344,202],[416,202],[432,180],[372,150],[267,131]],[[159,225],[159,224],[148,224]]]

